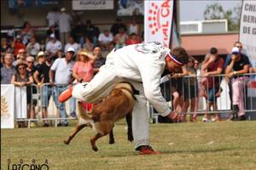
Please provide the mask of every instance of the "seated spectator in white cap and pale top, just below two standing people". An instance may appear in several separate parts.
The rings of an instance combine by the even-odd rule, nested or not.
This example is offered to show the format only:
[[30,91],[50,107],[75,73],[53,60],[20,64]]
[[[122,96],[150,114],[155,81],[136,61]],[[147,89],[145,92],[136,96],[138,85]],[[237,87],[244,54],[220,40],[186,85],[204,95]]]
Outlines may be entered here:
[[49,57],[51,59],[56,59],[56,53],[62,48],[61,42],[56,39],[54,34],[51,34],[49,38],[50,40],[47,42],[45,49],[49,52]]

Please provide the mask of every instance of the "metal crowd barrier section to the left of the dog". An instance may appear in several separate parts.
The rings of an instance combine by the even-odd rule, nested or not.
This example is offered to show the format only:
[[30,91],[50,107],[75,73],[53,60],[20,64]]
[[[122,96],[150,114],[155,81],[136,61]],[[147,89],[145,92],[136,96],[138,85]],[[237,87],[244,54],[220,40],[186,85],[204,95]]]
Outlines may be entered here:
[[[67,89],[67,87],[67,84],[55,84],[55,86],[52,87],[49,83],[44,83],[40,88],[35,84],[27,86],[27,101],[16,102],[16,105],[20,105],[20,108],[22,108],[26,102],[28,106],[31,105],[32,108],[34,108],[35,114],[33,116],[33,110],[31,109],[28,111],[28,115],[25,116],[23,113],[22,116],[17,116],[18,111],[15,113],[15,122],[27,122],[27,127],[30,128],[31,122],[52,124],[52,121],[54,121],[55,127],[57,127],[58,122],[67,123],[68,120],[76,119],[75,117],[67,116],[67,109],[76,112],[76,100],[69,99],[70,105],[66,107],[66,104],[61,104],[57,99],[61,92]],[[19,87],[17,87],[17,89],[19,89]],[[71,111],[69,111],[69,113],[70,112]],[[33,117],[29,117],[29,115]]]

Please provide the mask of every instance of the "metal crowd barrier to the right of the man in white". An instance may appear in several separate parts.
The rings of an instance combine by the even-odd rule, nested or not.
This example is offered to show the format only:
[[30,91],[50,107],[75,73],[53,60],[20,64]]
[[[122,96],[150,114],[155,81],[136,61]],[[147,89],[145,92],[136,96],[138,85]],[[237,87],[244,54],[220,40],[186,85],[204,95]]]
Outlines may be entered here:
[[[227,82],[225,75],[210,77],[187,76],[168,79],[166,82],[161,83],[160,88],[172,111],[177,111],[179,115],[202,115],[206,113],[224,115],[226,113],[226,116],[229,116],[233,111],[232,98],[234,98],[234,94],[242,95],[237,97],[240,99],[238,105],[240,107],[241,105],[244,106],[241,107],[240,111],[246,113],[256,111],[256,108],[253,107],[256,102],[256,89],[251,87],[251,82],[255,81],[255,77],[255,73],[244,74],[231,78]],[[177,94],[180,95],[178,97],[181,97],[182,104],[175,103],[177,102]],[[242,101],[244,101],[244,104],[242,104]],[[209,107],[209,104],[211,107]],[[148,111],[150,117],[157,122],[159,114],[152,105],[149,106]],[[247,119],[251,119],[250,115]]]

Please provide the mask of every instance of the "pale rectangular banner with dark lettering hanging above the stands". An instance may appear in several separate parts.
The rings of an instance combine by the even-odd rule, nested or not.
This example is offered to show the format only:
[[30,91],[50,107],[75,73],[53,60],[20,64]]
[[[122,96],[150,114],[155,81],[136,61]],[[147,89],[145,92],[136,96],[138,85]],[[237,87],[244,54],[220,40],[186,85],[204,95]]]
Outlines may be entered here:
[[113,9],[113,0],[73,0],[73,10]]

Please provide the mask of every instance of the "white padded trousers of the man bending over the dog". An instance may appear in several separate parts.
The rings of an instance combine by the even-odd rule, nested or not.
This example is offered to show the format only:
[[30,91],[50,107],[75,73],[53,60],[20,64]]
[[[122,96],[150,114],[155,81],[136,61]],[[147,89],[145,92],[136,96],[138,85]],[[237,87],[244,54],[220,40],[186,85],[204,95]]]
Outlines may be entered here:
[[135,147],[149,145],[149,118],[147,102],[143,92],[143,83],[118,76],[113,68],[104,65],[89,83],[79,83],[73,87],[73,97],[88,103],[96,103],[106,97],[116,82],[127,81],[140,92],[132,112],[132,133]]

